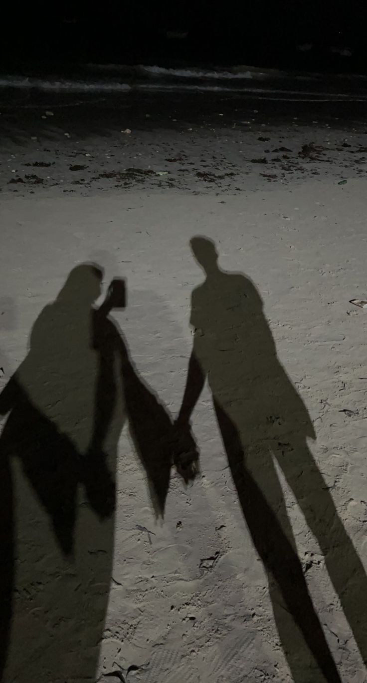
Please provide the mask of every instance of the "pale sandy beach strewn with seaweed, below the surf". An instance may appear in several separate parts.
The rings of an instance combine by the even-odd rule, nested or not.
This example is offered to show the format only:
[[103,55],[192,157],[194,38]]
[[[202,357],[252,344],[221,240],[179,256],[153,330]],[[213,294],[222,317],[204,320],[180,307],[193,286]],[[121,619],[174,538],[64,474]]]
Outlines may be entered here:
[[[217,120],[220,113],[218,104]],[[195,122],[188,121],[179,130],[163,126],[154,131],[151,124],[143,130],[141,124],[131,134],[110,130],[108,136],[93,134],[89,127],[88,136],[80,140],[70,123],[65,131],[70,138],[54,131],[46,143],[40,130],[38,141],[31,141],[34,131],[26,124],[23,139],[8,139],[1,171],[0,388],[18,369],[18,384],[25,391],[22,399],[11,395],[8,403],[6,394],[0,395],[2,412],[11,406],[8,417],[1,418],[0,440],[3,460],[9,461],[8,467],[3,465],[3,477],[8,477],[3,514],[10,520],[3,525],[8,544],[3,597],[11,592],[14,596],[12,626],[9,630],[5,615],[2,627],[10,632],[3,680],[119,680],[104,678],[117,671],[120,680],[130,682],[364,682],[366,313],[349,303],[367,298],[367,200],[364,177],[359,178],[365,173],[363,126],[353,120],[329,123],[329,128],[310,121],[280,126],[267,120],[263,126],[252,125],[246,137],[233,122],[199,130],[199,124],[195,128]],[[40,126],[46,126],[44,121]],[[128,126],[134,128],[123,117],[121,130]],[[315,151],[311,144],[323,149]],[[290,151],[264,151],[280,147]],[[280,157],[282,161],[274,161]],[[176,161],[168,161],[171,158]],[[251,162],[254,158],[266,158],[267,163]],[[72,165],[87,169],[72,171]],[[126,172],[130,168],[135,171]],[[43,182],[26,177],[32,174]],[[19,178],[24,182],[15,182]],[[340,184],[343,179],[347,183]],[[245,275],[246,281],[239,277],[238,287],[246,282],[263,301],[263,313],[256,313],[256,320],[262,316],[263,332],[258,346],[251,342],[252,369],[251,355],[237,359],[235,366],[229,363],[227,412],[233,385],[241,413],[245,399],[236,393],[241,382],[255,382],[253,391],[261,404],[265,393],[256,389],[258,376],[262,391],[268,378],[267,395],[276,395],[272,409],[278,407],[280,415],[283,398],[303,402],[309,426],[308,431],[302,428],[304,445],[308,441],[308,452],[323,476],[315,481],[325,486],[312,489],[312,483],[312,490],[304,498],[299,493],[297,500],[297,486],[291,490],[290,482],[292,477],[307,479],[308,464],[283,448],[283,456],[293,458],[298,468],[287,478],[287,466],[282,469],[281,458],[276,460],[293,529],[289,546],[284,540],[288,522],[280,514],[284,538],[274,522],[280,508],[274,507],[269,485],[263,482],[262,494],[251,498],[250,477],[240,498],[242,510],[250,502],[247,521],[252,531],[257,513],[251,503],[259,506],[260,540],[254,541],[231,478],[214,413],[214,389],[208,384],[192,413],[201,471],[186,486],[172,469],[163,516],[162,501],[157,503],[153,495],[158,461],[150,473],[148,461],[150,456],[159,458],[162,445],[154,440],[162,436],[164,442],[160,425],[169,426],[179,413],[188,359],[201,334],[190,326],[192,291],[204,277],[189,244],[196,235],[213,240],[220,269]],[[84,279],[82,273],[67,289],[69,298],[57,300],[72,269],[83,262],[104,269],[102,298],[98,289],[90,289],[89,275]],[[102,501],[98,495],[93,498],[93,491],[86,493],[87,484],[77,483],[69,465],[65,469],[60,464],[65,453],[86,453],[93,432],[100,371],[98,351],[91,344],[90,307],[94,299],[103,300],[113,277],[126,278],[127,305],[113,309],[100,323],[100,338],[102,346],[106,339],[107,346],[115,345],[108,348],[121,351],[127,363],[123,367],[130,369],[123,376],[133,375],[126,386],[131,389],[138,382],[136,392],[131,389],[127,395],[123,383],[117,389],[106,385],[106,396],[112,391],[115,397],[104,443],[109,471],[116,473],[115,511],[106,504],[109,484],[100,462],[96,481]],[[232,335],[233,327],[220,325],[223,291],[218,294],[218,316],[215,305],[211,315],[218,322],[217,332],[226,329]],[[53,307],[42,313],[50,303]],[[252,329],[248,325],[245,335]],[[264,341],[269,330],[278,353],[271,370],[271,337],[269,346]],[[222,342],[225,346],[225,335]],[[255,346],[260,353],[256,362]],[[120,376],[119,361],[111,365],[106,357],[105,363],[107,375]],[[274,390],[281,367],[289,378],[282,375],[280,381],[284,387],[289,382],[287,396]],[[266,417],[278,419],[274,409]],[[315,440],[310,438],[312,430]],[[241,434],[238,424],[237,431]],[[290,440],[283,430],[278,441],[284,446]],[[271,456],[268,463],[272,471],[275,459]],[[85,469],[91,471],[89,464]],[[264,471],[259,473],[261,490]],[[76,510],[69,527],[64,498]],[[305,512],[308,499],[314,504],[313,524]],[[249,522],[251,516],[255,520]],[[337,540],[332,520],[334,531],[340,532]],[[315,529],[321,529],[319,538]],[[287,584],[289,594],[293,591],[293,607],[281,587],[269,591],[261,557],[267,536],[269,555],[280,553],[274,571],[284,578],[282,584],[278,574],[280,586]],[[293,544],[304,579],[292,574],[292,563],[298,566]],[[297,581],[304,581],[309,591],[315,624],[321,624],[340,678],[327,660],[321,635],[314,632],[315,643],[319,638],[315,651],[319,646],[323,650],[317,663],[293,622],[291,613],[297,613],[303,623],[302,612],[308,621],[306,594],[297,594]],[[136,667],[128,678],[121,678],[132,665]]]

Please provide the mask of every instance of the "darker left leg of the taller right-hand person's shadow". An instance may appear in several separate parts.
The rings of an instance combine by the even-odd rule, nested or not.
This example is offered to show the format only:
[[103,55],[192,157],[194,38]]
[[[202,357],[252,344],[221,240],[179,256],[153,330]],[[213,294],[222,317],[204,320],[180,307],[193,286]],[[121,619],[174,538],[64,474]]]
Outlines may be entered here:
[[[233,482],[252,541],[268,576],[271,576],[270,587],[276,585],[282,597],[282,603],[275,600],[276,591],[271,588],[274,618],[293,678],[297,683],[305,683],[308,680],[305,671],[309,665],[309,659],[304,662],[299,661],[300,653],[297,649],[299,639],[293,639],[293,637],[291,639],[291,630],[282,628],[284,609],[289,611],[302,632],[325,680],[328,683],[340,683],[340,676],[319,618],[314,611],[297,553],[267,503],[261,488],[244,465],[244,451],[237,429],[218,403],[215,402],[214,405]],[[301,675],[302,678],[300,678]]]

